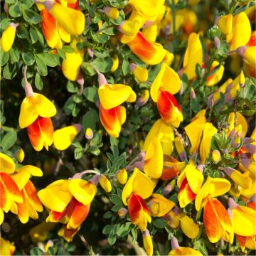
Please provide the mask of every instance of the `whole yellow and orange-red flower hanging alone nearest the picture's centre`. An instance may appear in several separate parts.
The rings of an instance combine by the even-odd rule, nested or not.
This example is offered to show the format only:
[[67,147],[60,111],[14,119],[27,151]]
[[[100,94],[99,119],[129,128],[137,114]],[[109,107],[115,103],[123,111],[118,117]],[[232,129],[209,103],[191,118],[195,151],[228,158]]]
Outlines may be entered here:
[[134,102],[136,94],[132,87],[121,84],[109,85],[106,80],[103,83],[100,82],[98,94],[100,122],[110,136],[119,137],[121,126],[126,119],[126,110],[120,105],[124,102]]

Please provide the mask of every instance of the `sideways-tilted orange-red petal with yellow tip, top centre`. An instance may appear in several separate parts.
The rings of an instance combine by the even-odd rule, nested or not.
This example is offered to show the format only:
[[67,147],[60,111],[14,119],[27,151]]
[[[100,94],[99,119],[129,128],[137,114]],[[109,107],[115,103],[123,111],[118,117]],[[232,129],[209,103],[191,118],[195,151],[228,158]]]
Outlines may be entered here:
[[166,55],[166,50],[161,44],[146,40],[142,32],[138,32],[127,45],[132,50],[132,53],[149,65],[160,63]]

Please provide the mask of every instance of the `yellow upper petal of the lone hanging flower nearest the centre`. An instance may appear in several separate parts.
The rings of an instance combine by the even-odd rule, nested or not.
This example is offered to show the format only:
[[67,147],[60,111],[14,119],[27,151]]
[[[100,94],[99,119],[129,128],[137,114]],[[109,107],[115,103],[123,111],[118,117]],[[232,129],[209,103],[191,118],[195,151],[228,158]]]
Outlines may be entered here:
[[[136,100],[132,87],[127,85],[100,85],[98,89],[100,104],[105,110],[110,110],[129,100]],[[132,96],[132,98],[131,98]]]

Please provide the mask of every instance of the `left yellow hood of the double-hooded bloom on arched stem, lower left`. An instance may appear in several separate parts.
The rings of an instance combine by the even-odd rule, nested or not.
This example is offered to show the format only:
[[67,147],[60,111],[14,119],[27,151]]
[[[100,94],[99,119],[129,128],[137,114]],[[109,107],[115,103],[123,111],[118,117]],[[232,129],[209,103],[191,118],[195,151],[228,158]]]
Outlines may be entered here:
[[54,181],[46,188],[39,191],[38,197],[41,203],[50,210],[62,213],[73,197],[69,191],[62,188],[63,184],[68,182],[69,181],[66,180]]

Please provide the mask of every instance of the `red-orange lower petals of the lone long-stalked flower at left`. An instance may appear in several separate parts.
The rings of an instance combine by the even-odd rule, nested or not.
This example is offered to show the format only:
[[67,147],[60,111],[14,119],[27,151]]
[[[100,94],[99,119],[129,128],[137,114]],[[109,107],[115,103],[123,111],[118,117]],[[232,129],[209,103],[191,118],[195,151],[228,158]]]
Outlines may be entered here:
[[53,123],[50,117],[38,117],[33,124],[27,127],[28,137],[36,151],[41,151],[43,146],[53,144]]

